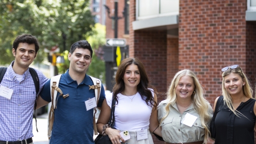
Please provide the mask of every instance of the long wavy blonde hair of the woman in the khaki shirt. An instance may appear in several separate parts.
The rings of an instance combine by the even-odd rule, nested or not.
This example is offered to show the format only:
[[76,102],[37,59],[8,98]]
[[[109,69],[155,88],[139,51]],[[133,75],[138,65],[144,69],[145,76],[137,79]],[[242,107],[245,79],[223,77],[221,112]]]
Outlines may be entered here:
[[207,143],[208,141],[208,137],[210,134],[209,128],[208,128],[208,122],[210,121],[211,117],[208,114],[208,101],[204,98],[204,89],[203,87],[200,85],[198,78],[196,77],[196,75],[190,71],[190,70],[182,70],[179,71],[178,73],[175,74],[175,76],[173,77],[171,84],[168,88],[167,91],[167,104],[165,107],[166,110],[166,115],[161,119],[161,122],[168,116],[170,109],[169,106],[175,104],[176,102],[176,92],[175,92],[175,88],[176,86],[178,86],[178,83],[180,81],[180,78],[182,76],[190,76],[193,79],[194,82],[194,91],[195,93],[191,95],[191,99],[193,101],[193,106],[194,106],[194,110],[200,115],[201,118],[201,123],[202,126],[204,127],[204,132],[205,132],[205,136],[204,136],[204,143]]

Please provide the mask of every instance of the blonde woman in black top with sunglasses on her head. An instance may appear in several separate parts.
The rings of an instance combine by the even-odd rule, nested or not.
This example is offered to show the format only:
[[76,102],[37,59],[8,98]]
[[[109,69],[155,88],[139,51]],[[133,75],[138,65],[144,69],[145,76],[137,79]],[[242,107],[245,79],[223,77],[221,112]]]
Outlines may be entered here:
[[[222,96],[214,111],[215,144],[254,144],[255,99],[246,75],[239,65],[222,69]],[[220,98],[220,106],[215,109]]]

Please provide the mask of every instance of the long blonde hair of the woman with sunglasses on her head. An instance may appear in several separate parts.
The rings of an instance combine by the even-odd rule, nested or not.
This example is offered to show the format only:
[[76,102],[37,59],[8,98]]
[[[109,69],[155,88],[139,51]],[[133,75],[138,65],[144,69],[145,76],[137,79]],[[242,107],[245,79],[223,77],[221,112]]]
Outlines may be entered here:
[[224,104],[227,105],[227,107],[235,114],[235,115],[243,115],[240,112],[238,112],[237,110],[234,109],[233,104],[232,104],[232,97],[231,95],[228,93],[228,91],[225,89],[225,76],[229,75],[230,73],[235,73],[238,74],[239,76],[241,76],[241,78],[243,79],[243,81],[245,82],[245,85],[243,86],[242,90],[243,90],[243,94],[248,97],[248,98],[253,98],[252,97],[252,89],[249,83],[248,78],[246,77],[246,75],[243,73],[242,69],[238,66],[235,69],[230,69],[228,68],[228,70],[224,71],[222,73],[222,95],[223,95],[223,99],[224,99]]

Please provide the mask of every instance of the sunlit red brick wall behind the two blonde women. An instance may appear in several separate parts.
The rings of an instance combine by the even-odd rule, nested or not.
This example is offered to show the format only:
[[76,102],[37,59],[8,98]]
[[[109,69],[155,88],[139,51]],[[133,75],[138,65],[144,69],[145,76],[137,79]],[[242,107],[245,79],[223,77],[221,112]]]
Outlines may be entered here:
[[213,105],[221,95],[221,68],[246,72],[246,1],[180,1],[179,69],[194,71]]

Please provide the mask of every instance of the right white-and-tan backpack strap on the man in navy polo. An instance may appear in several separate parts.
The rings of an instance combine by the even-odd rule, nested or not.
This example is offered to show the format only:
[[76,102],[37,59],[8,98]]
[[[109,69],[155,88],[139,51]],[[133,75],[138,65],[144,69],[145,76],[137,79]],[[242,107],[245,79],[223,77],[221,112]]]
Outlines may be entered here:
[[[97,79],[95,77],[90,76],[91,80],[93,81],[93,86],[89,86],[90,89],[94,89],[95,92],[95,100],[96,100],[96,105],[98,105],[99,99],[100,99],[100,94],[101,94],[101,86],[102,82],[100,79]],[[97,127],[96,127],[96,120],[95,120],[95,114],[97,110],[96,107],[93,109],[93,130],[94,130],[94,135],[97,135]]]

